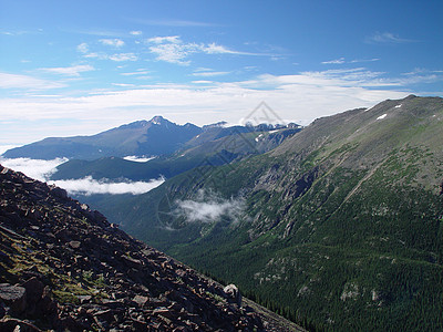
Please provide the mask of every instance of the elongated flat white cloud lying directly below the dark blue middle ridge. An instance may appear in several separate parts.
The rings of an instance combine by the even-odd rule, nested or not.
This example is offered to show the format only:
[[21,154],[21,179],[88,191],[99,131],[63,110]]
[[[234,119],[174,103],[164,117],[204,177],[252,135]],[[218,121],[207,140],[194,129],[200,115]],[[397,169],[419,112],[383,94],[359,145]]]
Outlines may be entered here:
[[151,181],[125,181],[115,183],[109,179],[96,180],[91,176],[86,176],[82,179],[68,179],[50,181],[58,187],[66,189],[70,195],[96,195],[96,194],[132,194],[141,195],[145,194],[165,181],[164,178],[152,179]]

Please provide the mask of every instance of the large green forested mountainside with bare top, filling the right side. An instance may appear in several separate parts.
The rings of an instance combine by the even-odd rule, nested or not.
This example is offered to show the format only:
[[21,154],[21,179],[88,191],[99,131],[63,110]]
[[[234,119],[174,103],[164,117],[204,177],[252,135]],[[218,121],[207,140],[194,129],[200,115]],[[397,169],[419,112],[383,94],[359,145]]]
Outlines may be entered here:
[[437,331],[442,124],[442,98],[385,101],[106,214],[306,326]]

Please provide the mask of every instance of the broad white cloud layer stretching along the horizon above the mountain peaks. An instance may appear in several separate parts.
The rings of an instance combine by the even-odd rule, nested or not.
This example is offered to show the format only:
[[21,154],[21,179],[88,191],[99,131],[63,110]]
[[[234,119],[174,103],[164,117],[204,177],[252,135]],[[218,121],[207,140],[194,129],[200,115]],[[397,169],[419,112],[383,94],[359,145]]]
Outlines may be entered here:
[[[409,76],[401,77],[411,80]],[[0,81],[1,82],[1,81]],[[1,144],[21,143],[29,127],[51,120],[43,137],[66,133],[97,133],[131,121],[148,118],[161,110],[176,123],[197,125],[227,121],[236,124],[265,101],[280,118],[306,125],[317,117],[354,107],[369,107],[387,98],[404,97],[410,92],[380,90],[402,86],[394,79],[365,69],[303,72],[296,75],[260,75],[253,80],[195,84],[157,84],[134,89],[92,91],[81,96],[0,98],[0,132],[12,137]],[[205,83],[207,85],[202,85]],[[369,89],[370,87],[370,89]],[[94,129],[95,127],[95,129]],[[38,129],[32,127],[35,133]],[[43,137],[39,137],[40,139]],[[29,143],[29,142],[23,142]]]

